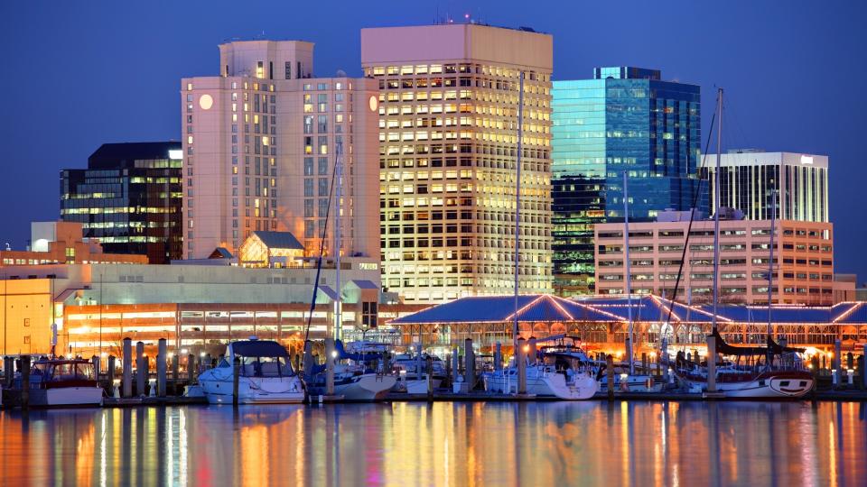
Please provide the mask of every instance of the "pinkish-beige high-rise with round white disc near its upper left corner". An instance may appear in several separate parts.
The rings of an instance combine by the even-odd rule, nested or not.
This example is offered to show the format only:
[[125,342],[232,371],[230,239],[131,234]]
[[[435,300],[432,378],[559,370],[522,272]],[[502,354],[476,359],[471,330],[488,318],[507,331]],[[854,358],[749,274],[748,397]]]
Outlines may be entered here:
[[312,69],[311,42],[232,41],[219,76],[182,79],[186,258],[235,253],[254,231],[291,232],[314,256],[326,226],[333,255],[340,152],[342,254],[378,259],[378,85]]

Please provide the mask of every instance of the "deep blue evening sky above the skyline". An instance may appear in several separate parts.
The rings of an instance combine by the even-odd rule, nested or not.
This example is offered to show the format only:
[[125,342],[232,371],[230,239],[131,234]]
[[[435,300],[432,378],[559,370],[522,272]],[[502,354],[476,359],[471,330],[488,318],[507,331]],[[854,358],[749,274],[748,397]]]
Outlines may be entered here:
[[634,65],[701,85],[703,138],[714,86],[724,87],[724,148],[828,154],[835,271],[867,280],[861,253],[867,243],[861,204],[867,189],[867,3],[131,4],[0,5],[0,244],[21,248],[32,220],[58,217],[58,170],[84,167],[99,144],[178,139],[179,79],[216,74],[219,41],[262,32],[314,41],[317,75],[337,69],[359,75],[361,27],[431,23],[437,12],[469,12],[485,23],[554,34],[556,79],[590,78],[594,66]]

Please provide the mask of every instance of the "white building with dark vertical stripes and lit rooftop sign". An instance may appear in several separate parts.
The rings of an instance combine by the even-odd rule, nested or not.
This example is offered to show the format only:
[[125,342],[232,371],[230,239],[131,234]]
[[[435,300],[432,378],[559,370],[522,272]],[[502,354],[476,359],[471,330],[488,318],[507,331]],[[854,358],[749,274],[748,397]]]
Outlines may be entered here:
[[[716,154],[708,154],[702,173],[709,179],[712,209],[715,165]],[[747,219],[769,219],[776,205],[783,220],[829,221],[828,156],[741,150],[722,154],[720,171],[720,205],[741,210]]]

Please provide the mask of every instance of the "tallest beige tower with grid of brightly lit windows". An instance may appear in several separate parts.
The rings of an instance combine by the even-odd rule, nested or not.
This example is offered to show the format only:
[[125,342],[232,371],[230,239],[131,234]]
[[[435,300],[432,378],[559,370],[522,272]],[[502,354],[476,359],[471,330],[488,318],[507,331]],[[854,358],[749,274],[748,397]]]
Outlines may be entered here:
[[553,38],[442,24],[361,30],[379,89],[383,285],[435,303],[514,289],[519,75],[520,292],[550,292]]

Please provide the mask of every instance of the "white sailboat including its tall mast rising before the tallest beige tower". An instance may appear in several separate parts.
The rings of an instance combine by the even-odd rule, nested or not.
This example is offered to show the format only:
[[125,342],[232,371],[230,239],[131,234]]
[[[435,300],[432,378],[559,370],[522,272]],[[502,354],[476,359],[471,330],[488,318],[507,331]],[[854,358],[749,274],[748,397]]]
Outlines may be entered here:
[[[524,131],[524,72],[521,71],[518,84],[517,106],[517,174],[515,178],[515,312],[512,324],[512,340],[517,356],[518,337],[518,262],[521,211],[521,155],[523,152]],[[555,365],[537,361],[537,357],[525,357],[527,361],[527,394],[538,397],[555,397],[561,400],[588,400],[599,390],[599,384],[591,372],[578,371],[566,373],[558,371]],[[486,391],[500,393],[518,393],[517,363],[513,359],[508,367],[482,375]]]

